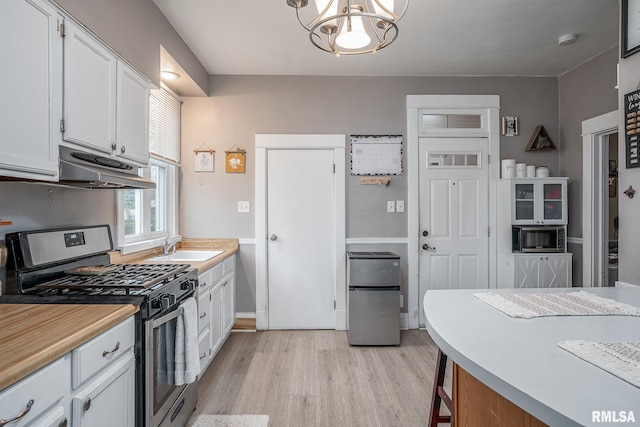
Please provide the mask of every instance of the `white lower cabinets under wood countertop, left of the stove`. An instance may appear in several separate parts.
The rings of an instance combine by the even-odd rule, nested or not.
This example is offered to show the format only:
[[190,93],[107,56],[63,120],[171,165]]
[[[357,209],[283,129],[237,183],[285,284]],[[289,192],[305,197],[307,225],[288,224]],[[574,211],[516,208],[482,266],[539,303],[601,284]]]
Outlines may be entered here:
[[0,420],[13,420],[11,427],[134,425],[134,334],[130,317],[2,391]]

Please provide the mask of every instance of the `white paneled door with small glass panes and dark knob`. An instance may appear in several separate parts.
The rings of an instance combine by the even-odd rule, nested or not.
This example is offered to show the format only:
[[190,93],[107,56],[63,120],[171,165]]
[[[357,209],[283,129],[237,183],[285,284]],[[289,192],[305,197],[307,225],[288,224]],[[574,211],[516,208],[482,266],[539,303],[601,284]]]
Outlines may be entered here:
[[489,287],[489,167],[487,138],[420,138],[419,146],[422,305],[428,289]]

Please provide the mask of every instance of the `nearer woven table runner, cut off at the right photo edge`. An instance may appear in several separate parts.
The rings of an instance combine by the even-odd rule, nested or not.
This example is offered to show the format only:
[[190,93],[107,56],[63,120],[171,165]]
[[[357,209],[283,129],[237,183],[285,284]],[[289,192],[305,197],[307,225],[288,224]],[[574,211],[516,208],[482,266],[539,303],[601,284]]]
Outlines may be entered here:
[[558,347],[640,388],[640,341],[563,341]]

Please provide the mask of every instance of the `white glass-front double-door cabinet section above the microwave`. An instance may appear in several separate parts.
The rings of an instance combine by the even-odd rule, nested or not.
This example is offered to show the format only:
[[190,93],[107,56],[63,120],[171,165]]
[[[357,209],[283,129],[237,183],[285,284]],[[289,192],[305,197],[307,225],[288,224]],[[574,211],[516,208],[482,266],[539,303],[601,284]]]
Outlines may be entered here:
[[507,180],[511,186],[511,223],[553,225],[567,223],[567,179]]

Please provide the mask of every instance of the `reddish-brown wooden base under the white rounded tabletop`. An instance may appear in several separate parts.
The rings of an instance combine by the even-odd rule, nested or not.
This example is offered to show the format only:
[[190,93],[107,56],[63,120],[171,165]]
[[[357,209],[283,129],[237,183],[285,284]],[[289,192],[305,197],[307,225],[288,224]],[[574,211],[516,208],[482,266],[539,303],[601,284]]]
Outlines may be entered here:
[[514,405],[464,369],[453,365],[456,427],[545,427],[547,424]]

